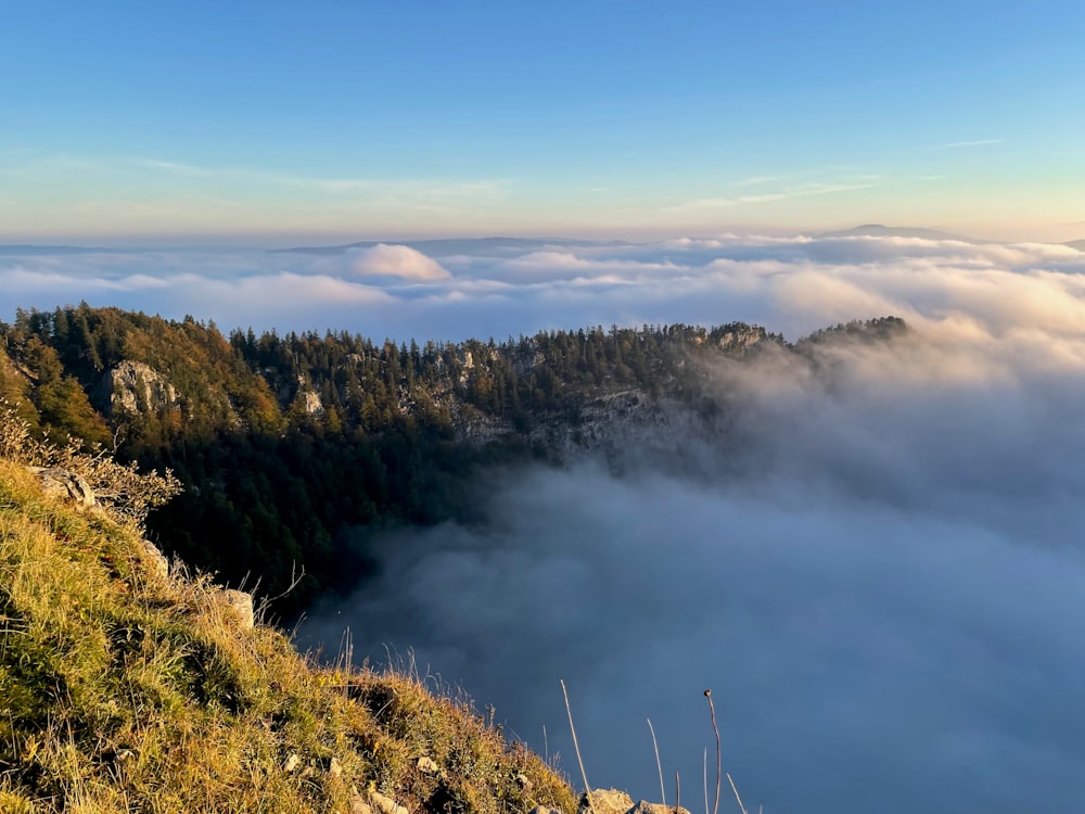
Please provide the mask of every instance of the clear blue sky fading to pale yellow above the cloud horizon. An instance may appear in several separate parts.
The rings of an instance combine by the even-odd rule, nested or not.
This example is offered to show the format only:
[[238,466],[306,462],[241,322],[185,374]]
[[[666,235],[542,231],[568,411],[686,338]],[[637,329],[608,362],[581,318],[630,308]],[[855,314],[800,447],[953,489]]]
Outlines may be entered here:
[[1073,2],[22,4],[0,240],[1085,237]]

